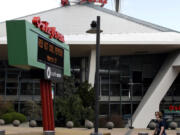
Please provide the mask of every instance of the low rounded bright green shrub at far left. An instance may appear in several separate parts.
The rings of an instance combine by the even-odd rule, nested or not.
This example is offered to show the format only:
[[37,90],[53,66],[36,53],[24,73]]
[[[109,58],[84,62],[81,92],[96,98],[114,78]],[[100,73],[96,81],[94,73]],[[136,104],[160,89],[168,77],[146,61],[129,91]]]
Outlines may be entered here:
[[17,112],[6,113],[1,116],[1,119],[3,119],[6,124],[12,123],[14,120],[19,120],[21,123],[27,121],[23,114]]

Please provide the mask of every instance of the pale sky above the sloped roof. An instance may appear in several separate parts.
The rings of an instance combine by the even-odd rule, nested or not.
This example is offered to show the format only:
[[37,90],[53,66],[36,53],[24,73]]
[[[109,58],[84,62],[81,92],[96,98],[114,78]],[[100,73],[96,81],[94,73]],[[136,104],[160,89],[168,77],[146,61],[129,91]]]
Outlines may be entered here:
[[[105,6],[114,7],[114,0]],[[121,13],[180,31],[180,0],[121,0]],[[0,22],[59,7],[60,0],[0,0]]]

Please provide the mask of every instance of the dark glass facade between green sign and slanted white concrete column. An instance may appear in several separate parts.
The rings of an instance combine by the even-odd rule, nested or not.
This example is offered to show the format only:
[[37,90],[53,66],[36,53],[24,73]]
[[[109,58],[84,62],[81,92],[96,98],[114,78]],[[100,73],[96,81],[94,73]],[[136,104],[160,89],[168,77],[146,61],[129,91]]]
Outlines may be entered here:
[[[100,115],[131,117],[148,87],[162,66],[167,54],[101,56],[100,58]],[[82,61],[85,59],[84,78],[88,80],[89,59],[71,58],[72,71],[82,78]],[[132,80],[132,84],[130,84]]]

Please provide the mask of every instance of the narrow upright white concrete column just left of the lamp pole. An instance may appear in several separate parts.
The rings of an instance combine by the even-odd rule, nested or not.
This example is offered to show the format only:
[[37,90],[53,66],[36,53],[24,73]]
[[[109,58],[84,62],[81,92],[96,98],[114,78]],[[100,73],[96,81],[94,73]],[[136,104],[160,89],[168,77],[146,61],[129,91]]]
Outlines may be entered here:
[[96,49],[91,50],[90,63],[89,63],[89,79],[88,82],[94,86],[96,72]]

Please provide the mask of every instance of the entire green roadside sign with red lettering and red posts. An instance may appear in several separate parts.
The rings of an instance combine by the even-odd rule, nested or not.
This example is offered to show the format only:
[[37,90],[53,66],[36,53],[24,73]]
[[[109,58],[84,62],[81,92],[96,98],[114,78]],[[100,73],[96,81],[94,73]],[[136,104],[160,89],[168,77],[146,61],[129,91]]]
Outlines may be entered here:
[[55,27],[49,27],[40,17],[34,17],[32,23],[25,20],[6,22],[8,63],[36,71],[32,76],[40,79],[44,135],[54,135],[51,83],[60,81],[63,75],[71,75],[70,51],[64,36]]

